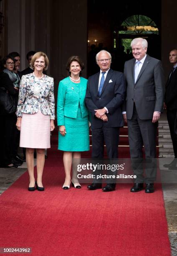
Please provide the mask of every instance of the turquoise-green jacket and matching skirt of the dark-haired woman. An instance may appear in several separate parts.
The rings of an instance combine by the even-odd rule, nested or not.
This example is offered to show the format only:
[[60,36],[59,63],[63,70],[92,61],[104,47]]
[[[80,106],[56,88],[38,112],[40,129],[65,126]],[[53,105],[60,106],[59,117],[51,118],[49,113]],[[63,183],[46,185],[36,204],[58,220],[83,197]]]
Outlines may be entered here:
[[63,151],[88,151],[89,125],[85,105],[87,79],[81,77],[74,83],[69,77],[58,86],[57,123],[65,125],[66,135],[58,133],[58,149]]

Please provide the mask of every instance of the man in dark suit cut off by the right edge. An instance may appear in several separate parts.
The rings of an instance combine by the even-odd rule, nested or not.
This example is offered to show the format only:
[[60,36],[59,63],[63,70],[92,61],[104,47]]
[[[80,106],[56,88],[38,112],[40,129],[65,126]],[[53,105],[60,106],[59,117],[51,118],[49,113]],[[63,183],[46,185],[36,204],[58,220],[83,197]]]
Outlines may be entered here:
[[167,120],[173,143],[174,160],[170,164],[164,164],[170,170],[177,169],[177,49],[169,53],[169,61],[173,64],[169,74],[165,91],[165,108],[167,108]]

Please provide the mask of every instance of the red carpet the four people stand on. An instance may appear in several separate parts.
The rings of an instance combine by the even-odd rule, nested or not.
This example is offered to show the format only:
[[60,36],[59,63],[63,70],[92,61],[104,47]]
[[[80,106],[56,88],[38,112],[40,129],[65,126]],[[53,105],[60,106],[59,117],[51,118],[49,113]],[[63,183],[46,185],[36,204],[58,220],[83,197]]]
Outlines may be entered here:
[[30,247],[34,256],[171,255],[160,186],[149,195],[130,193],[131,184],[65,191],[63,180],[61,157],[50,156],[44,192],[28,192],[25,173],[0,196],[0,247]]

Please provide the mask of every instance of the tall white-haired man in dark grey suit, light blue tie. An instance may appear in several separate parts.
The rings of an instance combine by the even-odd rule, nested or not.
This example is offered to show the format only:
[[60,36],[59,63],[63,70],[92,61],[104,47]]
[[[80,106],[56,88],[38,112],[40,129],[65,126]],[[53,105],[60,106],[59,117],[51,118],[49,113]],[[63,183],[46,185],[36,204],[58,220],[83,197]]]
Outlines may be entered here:
[[[153,159],[156,158],[157,121],[163,110],[164,77],[161,61],[147,55],[147,41],[134,38],[131,41],[134,59],[125,62],[126,100],[123,116],[129,128],[130,155],[133,169],[137,175],[131,192],[143,189],[143,158],[144,144],[146,161],[152,168],[146,169],[145,192],[154,192],[156,169]],[[136,160],[137,161],[136,163]]]

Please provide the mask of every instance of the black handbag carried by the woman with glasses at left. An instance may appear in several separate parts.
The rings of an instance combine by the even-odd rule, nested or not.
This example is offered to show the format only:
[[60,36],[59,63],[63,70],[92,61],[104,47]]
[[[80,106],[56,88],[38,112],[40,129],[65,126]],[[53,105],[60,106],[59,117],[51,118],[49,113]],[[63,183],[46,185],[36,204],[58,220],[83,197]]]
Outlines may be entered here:
[[7,114],[11,114],[16,111],[15,99],[4,87],[0,87],[0,106],[1,110]]

